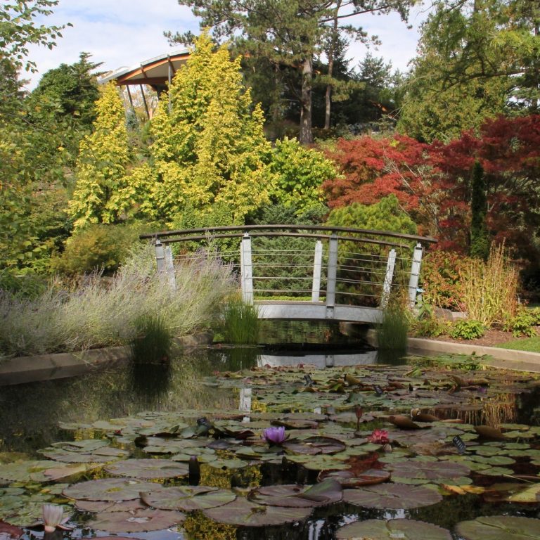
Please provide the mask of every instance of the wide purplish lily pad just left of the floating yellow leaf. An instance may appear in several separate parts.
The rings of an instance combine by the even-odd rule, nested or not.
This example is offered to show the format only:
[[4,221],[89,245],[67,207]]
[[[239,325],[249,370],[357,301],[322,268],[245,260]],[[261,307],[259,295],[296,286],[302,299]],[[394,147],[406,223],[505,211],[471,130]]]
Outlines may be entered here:
[[366,508],[398,510],[399,508],[420,508],[439,503],[442,501],[442,495],[422,486],[378,484],[359,489],[345,489],[343,500]]

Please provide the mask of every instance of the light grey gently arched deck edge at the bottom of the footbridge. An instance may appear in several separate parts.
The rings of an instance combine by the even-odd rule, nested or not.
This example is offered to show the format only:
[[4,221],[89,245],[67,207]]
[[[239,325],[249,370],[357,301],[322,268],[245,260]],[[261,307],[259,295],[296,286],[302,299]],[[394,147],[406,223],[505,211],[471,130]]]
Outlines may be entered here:
[[327,306],[323,302],[284,302],[259,300],[259,319],[298,319],[304,321],[350,321],[355,323],[380,323],[383,310],[378,307]]

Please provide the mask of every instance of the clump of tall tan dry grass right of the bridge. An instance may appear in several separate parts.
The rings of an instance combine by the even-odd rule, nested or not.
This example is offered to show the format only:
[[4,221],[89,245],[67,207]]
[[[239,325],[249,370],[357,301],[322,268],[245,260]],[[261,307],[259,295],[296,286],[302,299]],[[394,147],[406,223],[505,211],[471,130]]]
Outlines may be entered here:
[[460,271],[460,300],[469,319],[484,326],[515,315],[518,307],[518,270],[504,245],[491,245],[487,262],[473,259]]

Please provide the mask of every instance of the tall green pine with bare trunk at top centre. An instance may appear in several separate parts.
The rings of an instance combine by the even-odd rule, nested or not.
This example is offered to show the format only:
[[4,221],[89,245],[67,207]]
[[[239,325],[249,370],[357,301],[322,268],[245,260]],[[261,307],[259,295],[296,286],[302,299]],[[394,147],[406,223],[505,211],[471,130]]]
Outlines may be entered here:
[[[348,35],[367,42],[368,36],[361,26],[344,23],[360,15],[383,15],[392,11],[406,20],[413,1],[371,0],[354,6],[306,0],[180,0],[180,4],[191,6],[193,13],[202,18],[201,27],[213,27],[217,39],[236,36],[238,45],[250,56],[266,58],[275,67],[285,65],[297,71],[301,68],[302,73],[297,77],[300,84],[289,89],[300,104],[300,142],[305,144],[313,141],[311,91],[314,57],[323,51],[328,37]],[[182,43],[193,37],[171,32],[166,35],[171,41]]]

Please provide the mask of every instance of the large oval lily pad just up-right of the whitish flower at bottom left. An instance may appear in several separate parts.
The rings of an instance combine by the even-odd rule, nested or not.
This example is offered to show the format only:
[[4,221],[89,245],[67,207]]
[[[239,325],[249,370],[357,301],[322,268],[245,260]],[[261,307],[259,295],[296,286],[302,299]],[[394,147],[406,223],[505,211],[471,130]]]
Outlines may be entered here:
[[139,499],[140,491],[154,489],[153,482],[143,482],[135,478],[102,478],[72,484],[63,490],[70,499],[86,501],[129,501]]

